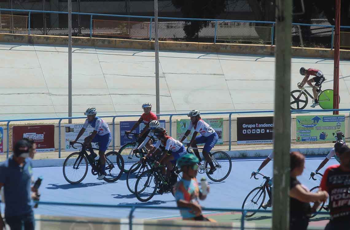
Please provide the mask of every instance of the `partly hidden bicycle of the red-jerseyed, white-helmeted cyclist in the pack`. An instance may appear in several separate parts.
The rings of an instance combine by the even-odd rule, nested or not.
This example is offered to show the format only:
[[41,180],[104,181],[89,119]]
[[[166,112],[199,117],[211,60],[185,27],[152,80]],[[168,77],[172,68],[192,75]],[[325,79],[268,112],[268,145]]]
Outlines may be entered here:
[[[134,132],[131,132],[130,134],[127,134],[125,132],[125,135],[128,139],[134,139],[132,142],[128,142],[120,147],[118,153],[121,156],[127,155],[124,161],[124,172],[128,173],[130,170],[130,167],[134,165],[135,162],[139,162],[140,158],[144,157],[145,153],[147,152],[147,149],[145,147],[142,148],[142,151],[139,153],[134,153],[133,150],[136,149],[140,141],[139,140],[139,134],[136,134]],[[133,137],[130,137],[129,135],[132,135]],[[137,170],[138,168],[135,168]]]

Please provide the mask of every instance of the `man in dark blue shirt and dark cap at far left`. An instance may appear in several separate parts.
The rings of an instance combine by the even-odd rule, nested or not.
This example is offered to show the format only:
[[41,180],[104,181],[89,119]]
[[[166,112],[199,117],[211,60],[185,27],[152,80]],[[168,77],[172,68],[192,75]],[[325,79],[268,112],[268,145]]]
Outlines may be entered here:
[[[37,189],[31,187],[32,161],[29,157],[30,144],[18,141],[13,155],[0,163],[0,188],[4,187],[5,220],[11,230],[34,230],[33,200]],[[4,226],[0,214],[0,229]]]

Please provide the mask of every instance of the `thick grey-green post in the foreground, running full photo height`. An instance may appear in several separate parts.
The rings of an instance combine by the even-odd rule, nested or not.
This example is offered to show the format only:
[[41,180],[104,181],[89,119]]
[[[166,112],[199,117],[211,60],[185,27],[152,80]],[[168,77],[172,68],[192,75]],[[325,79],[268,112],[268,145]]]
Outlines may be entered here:
[[289,230],[292,0],[276,1],[272,229]]

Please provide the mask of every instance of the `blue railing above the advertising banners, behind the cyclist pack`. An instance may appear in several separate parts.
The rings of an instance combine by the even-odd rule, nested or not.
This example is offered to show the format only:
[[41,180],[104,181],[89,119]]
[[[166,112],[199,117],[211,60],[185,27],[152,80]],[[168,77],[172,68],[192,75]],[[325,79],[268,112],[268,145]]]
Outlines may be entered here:
[[[292,114],[295,113],[314,113],[314,112],[333,112],[333,111],[350,111],[350,109],[303,109],[303,110],[290,110]],[[232,114],[256,114],[256,113],[273,113],[274,110],[257,110],[257,111],[236,111],[236,112],[214,112],[214,113],[201,113],[201,115],[223,115],[228,114],[229,115],[229,151],[231,150],[231,126],[232,126]],[[173,116],[186,116],[187,113],[171,113],[171,114],[157,114],[159,116],[169,116],[169,135],[172,136],[172,118]],[[98,116],[101,118],[104,117],[113,117],[112,120],[112,137],[113,137],[113,151],[115,150],[115,136],[116,136],[116,130],[115,130],[115,119],[117,117],[139,117],[141,115],[139,114],[132,114],[132,115],[106,115],[106,116]],[[6,157],[9,156],[9,125],[10,122],[14,121],[45,121],[45,120],[58,120],[58,158],[61,158],[61,122],[62,120],[69,120],[69,119],[83,119],[86,118],[86,116],[81,117],[53,117],[53,118],[30,118],[30,119],[12,119],[12,120],[0,120],[1,122],[7,122],[7,153]],[[136,122],[136,121],[135,121]]]

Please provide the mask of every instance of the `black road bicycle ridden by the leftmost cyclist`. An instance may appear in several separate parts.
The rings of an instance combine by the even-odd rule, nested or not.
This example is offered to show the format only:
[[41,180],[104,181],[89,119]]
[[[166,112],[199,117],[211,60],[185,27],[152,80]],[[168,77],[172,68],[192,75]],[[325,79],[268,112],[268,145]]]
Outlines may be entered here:
[[[88,165],[91,165],[91,173],[92,175],[99,174],[99,166],[100,161],[99,158],[92,159],[89,154],[87,154],[86,146],[84,143],[76,142],[77,144],[80,144],[82,147],[79,152],[73,152],[71,153],[64,161],[63,163],[63,176],[66,181],[68,181],[70,184],[78,184],[84,180],[87,174]],[[74,146],[72,146],[74,149]],[[92,148],[93,150],[98,150],[96,148]],[[106,173],[107,175],[105,178],[103,178],[106,182],[114,182],[117,181],[121,175],[123,174],[124,170],[124,159],[120,156],[118,152],[108,152],[105,154],[106,157]],[[117,164],[118,167],[114,166],[114,164]],[[69,168],[71,167],[72,168]],[[78,175],[77,180],[70,179],[69,173],[72,173],[73,177]]]

